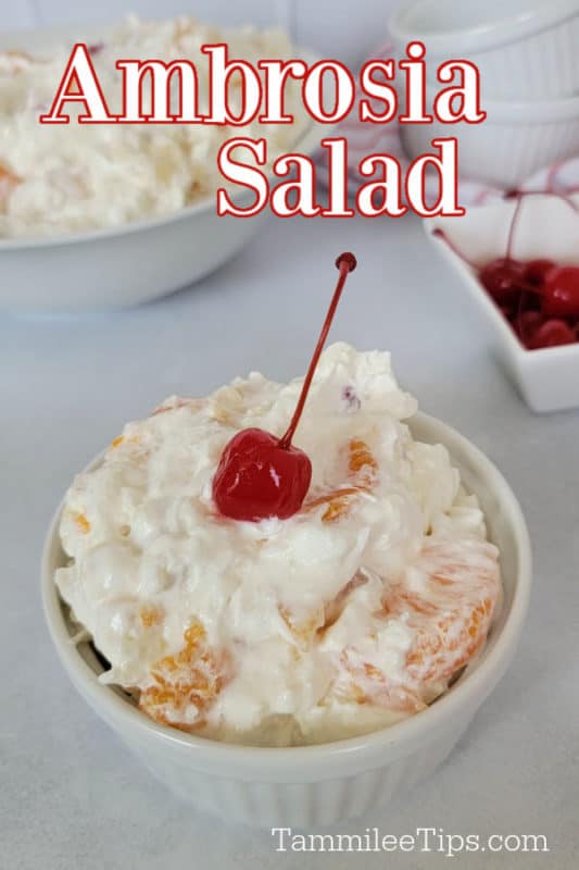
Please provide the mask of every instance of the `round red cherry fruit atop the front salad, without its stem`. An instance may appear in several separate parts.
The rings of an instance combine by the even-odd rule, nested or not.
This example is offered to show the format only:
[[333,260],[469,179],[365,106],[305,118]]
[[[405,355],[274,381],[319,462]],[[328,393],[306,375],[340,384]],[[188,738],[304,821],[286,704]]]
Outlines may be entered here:
[[279,438],[261,428],[246,428],[225,448],[213,494],[219,511],[232,520],[287,520],[302,506],[311,481],[312,463],[303,450],[280,447]]

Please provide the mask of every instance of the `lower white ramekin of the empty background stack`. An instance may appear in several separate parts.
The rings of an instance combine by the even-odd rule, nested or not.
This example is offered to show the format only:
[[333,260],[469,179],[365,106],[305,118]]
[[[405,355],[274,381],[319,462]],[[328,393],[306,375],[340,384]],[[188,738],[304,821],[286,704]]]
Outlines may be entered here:
[[[440,86],[428,85],[430,109]],[[517,187],[538,170],[579,152],[579,96],[544,102],[483,100],[481,124],[405,124],[404,146],[412,157],[432,150],[435,137],[458,140],[461,176],[500,187]]]

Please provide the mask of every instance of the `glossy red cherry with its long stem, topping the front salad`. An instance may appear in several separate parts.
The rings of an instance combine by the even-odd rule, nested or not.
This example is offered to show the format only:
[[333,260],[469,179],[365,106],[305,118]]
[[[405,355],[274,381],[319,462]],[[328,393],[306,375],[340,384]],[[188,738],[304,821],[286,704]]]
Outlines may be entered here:
[[340,277],[287,432],[278,438],[261,428],[242,430],[222,453],[213,478],[213,499],[219,512],[231,520],[260,522],[272,517],[287,520],[300,510],[307,495],[312,463],[303,450],[292,446],[291,440],[345,279],[356,268],[356,259],[353,253],[341,253],[336,265]]

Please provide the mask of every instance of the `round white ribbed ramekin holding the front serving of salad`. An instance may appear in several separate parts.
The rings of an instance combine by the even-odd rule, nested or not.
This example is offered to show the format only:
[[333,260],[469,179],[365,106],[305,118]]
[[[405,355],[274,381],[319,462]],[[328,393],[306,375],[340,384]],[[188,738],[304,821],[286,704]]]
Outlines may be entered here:
[[531,575],[520,507],[494,465],[456,432],[420,414],[412,431],[417,438],[446,445],[465,485],[479,496],[490,537],[501,549],[504,605],[482,655],[443,697],[424,712],[363,737],[287,749],[219,744],[156,724],[123,692],[101,685],[97,676],[102,664],[88,644],[72,642],[75,630],[54,584],[54,571],[64,560],[59,509],[43,552],[42,594],[60,659],[97,714],[197,809],[260,826],[307,828],[361,816],[399,797],[441,763],[511,662]]

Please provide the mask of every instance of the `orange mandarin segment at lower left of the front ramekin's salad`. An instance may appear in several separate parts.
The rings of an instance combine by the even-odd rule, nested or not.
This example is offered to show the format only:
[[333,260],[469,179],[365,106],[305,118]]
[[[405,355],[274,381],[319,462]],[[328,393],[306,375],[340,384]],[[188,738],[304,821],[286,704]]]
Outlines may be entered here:
[[184,633],[182,648],[152,667],[154,683],[139,700],[151,719],[188,732],[203,724],[203,713],[222,691],[228,673],[225,654],[209,648],[205,639],[203,625],[193,622]]

